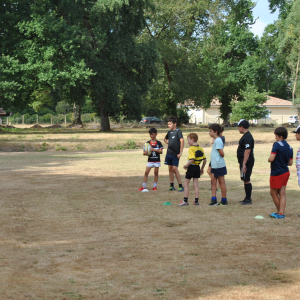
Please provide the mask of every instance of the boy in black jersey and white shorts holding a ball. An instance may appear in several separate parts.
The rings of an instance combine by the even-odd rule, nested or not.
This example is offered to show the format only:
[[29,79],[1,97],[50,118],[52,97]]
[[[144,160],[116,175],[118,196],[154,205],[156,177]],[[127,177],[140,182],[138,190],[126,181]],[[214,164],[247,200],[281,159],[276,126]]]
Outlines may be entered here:
[[[150,128],[149,134],[150,134],[151,140],[148,141],[147,143],[149,143],[151,145],[152,152],[151,152],[151,155],[148,157],[148,163],[146,166],[143,185],[141,188],[138,189],[138,191],[140,191],[140,192],[142,192],[142,191],[148,192],[148,190],[146,189],[146,186],[147,186],[148,175],[152,168],[154,168],[154,183],[153,183],[152,189],[154,191],[157,191],[158,169],[160,167],[160,154],[162,154],[163,148],[164,148],[162,143],[156,139],[156,136],[157,136],[156,128]],[[143,155],[148,155],[148,153],[143,152]]]

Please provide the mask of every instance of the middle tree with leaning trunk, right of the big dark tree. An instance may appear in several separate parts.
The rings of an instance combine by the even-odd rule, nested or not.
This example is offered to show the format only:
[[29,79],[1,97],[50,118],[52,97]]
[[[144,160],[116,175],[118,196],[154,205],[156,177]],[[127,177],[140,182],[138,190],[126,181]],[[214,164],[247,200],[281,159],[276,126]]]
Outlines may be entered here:
[[161,111],[177,115],[177,104],[202,92],[203,74],[197,69],[198,39],[218,16],[221,1],[154,0],[147,10],[142,39],[155,41],[159,51],[159,77],[148,97],[160,99]]

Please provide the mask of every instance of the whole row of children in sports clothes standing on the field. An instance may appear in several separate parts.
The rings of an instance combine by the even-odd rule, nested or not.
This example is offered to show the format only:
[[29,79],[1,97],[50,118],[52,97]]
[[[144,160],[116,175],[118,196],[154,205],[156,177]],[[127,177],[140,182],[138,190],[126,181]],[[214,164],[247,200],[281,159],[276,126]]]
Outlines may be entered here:
[[[175,190],[174,188],[174,175],[179,183],[178,191],[184,191],[184,200],[178,204],[178,206],[188,206],[188,195],[189,195],[189,182],[193,179],[193,186],[195,190],[195,201],[194,205],[199,205],[199,187],[198,180],[204,172],[206,165],[206,157],[203,148],[198,144],[198,135],[196,133],[190,133],[187,136],[189,148],[188,162],[183,166],[187,170],[185,175],[184,188],[182,187],[180,174],[178,171],[179,159],[182,155],[184,141],[182,132],[177,128],[176,118],[170,117],[168,119],[169,131],[165,136],[165,142],[168,144],[168,151],[165,159],[165,164],[169,166],[169,178],[170,188],[169,190]],[[238,123],[239,132],[243,134],[239,141],[237,149],[237,157],[240,166],[241,180],[244,181],[246,197],[240,201],[241,204],[247,205],[252,204],[251,192],[252,185],[250,176],[254,166],[254,139],[249,132],[249,123],[246,120],[240,120]],[[224,160],[224,145],[225,138],[222,139],[222,126],[219,124],[211,124],[209,126],[209,135],[214,139],[213,147],[211,150],[211,163],[210,163],[210,174],[211,174],[211,191],[212,197],[209,205],[228,205],[226,197],[226,184],[225,175],[227,174],[226,163]],[[296,130],[292,131],[296,133],[296,140],[300,141],[300,126]],[[149,130],[151,140],[148,141],[151,145],[151,155],[148,158],[148,164],[146,167],[144,181],[139,191],[145,191],[148,175],[152,168],[154,168],[154,184],[153,190],[157,190],[158,181],[158,170],[160,167],[160,154],[163,151],[163,145],[160,141],[156,140],[157,130],[151,128]],[[276,206],[277,212],[270,214],[270,217],[275,219],[285,218],[285,206],[286,206],[286,185],[290,176],[288,166],[293,164],[293,149],[286,142],[288,132],[285,127],[278,127],[274,131],[276,142],[273,144],[271,155],[268,162],[271,163],[271,175],[270,175],[270,194]],[[147,155],[146,152],[143,152]],[[200,169],[200,165],[202,166]],[[300,187],[300,147],[297,151],[296,157],[296,168],[298,185]],[[217,181],[220,183],[222,198],[218,203],[216,197]],[[148,190],[147,190],[148,191]]]

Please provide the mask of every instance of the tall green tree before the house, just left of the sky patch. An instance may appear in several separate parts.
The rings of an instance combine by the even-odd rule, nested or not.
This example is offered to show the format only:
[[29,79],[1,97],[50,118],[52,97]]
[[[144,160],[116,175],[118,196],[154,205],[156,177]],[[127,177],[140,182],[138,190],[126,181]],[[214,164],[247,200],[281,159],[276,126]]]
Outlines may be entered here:
[[247,84],[255,84],[262,67],[254,55],[258,40],[249,29],[254,23],[253,7],[248,0],[229,2],[228,17],[213,26],[202,42],[198,67],[199,72],[206,73],[207,81],[199,104],[209,107],[211,100],[217,97],[225,123],[231,113],[231,100],[239,97]]

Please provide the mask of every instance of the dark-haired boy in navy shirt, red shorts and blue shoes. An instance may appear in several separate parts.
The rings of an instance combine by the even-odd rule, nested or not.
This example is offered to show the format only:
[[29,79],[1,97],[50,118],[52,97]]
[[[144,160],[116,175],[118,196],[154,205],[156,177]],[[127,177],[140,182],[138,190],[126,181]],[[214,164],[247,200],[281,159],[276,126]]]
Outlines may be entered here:
[[276,142],[273,144],[268,162],[271,163],[270,194],[277,213],[270,214],[270,217],[284,219],[285,189],[290,177],[288,166],[293,164],[293,148],[286,142],[288,132],[285,127],[276,128],[274,134]]

